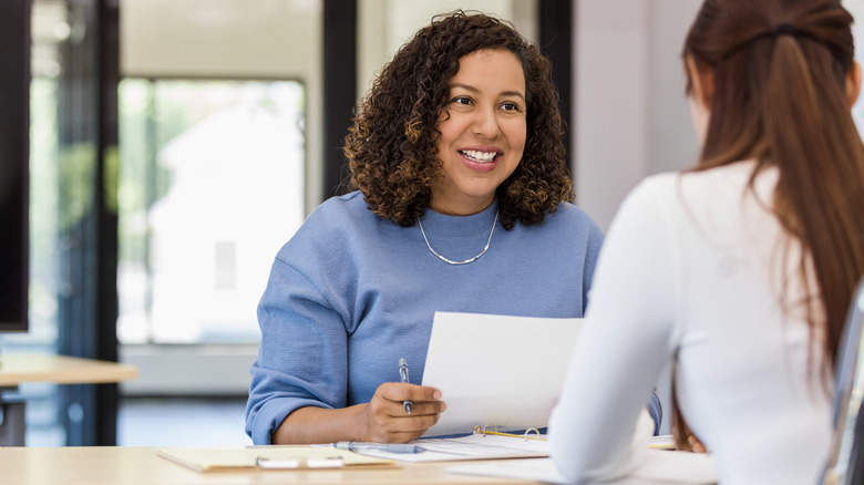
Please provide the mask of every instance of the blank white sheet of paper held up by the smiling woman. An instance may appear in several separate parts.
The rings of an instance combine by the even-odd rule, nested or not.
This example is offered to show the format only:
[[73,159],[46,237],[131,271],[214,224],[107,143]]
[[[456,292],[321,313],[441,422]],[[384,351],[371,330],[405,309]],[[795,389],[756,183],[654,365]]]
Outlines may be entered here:
[[582,322],[435,312],[423,385],[448,409],[424,436],[546,426]]

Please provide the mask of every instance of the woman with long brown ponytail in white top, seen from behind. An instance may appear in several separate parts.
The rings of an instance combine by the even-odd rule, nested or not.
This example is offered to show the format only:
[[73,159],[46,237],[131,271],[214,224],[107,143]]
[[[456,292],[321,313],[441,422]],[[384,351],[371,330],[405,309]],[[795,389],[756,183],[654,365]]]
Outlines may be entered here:
[[819,479],[864,275],[852,20],[840,0],[702,4],[683,49],[702,152],[637,186],[607,234],[549,426],[567,479],[638,464],[635,423],[668,364],[679,447],[703,444],[721,484]]

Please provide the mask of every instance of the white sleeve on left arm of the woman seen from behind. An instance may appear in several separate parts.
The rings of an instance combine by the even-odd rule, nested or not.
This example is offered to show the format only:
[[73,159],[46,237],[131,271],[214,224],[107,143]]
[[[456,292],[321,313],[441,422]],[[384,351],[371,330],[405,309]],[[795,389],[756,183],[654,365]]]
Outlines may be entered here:
[[634,444],[637,419],[673,351],[678,262],[664,210],[655,185],[642,183],[600,251],[586,323],[549,423],[552,458],[569,482],[619,477],[647,448],[647,436]]

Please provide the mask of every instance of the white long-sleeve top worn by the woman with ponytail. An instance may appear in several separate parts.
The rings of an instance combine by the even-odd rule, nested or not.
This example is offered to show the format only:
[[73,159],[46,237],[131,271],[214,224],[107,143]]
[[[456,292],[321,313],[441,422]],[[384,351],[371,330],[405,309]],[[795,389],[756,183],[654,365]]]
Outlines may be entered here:
[[552,457],[572,482],[635,465],[637,415],[677,359],[680,410],[721,484],[816,483],[833,383],[802,310],[781,305],[784,274],[789,299],[803,288],[800,247],[784,245],[768,209],[776,169],[753,194],[753,167],[651,176],[621,205],[549,423]]

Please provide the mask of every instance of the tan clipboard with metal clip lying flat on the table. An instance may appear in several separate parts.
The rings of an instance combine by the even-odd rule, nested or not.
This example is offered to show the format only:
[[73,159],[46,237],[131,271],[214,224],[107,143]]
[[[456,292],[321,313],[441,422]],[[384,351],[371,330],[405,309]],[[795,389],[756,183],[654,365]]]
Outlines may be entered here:
[[162,448],[156,454],[197,472],[249,469],[379,469],[395,466],[391,460],[348,450],[312,446],[183,447]]

